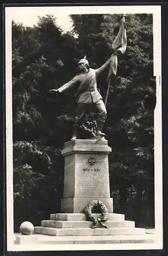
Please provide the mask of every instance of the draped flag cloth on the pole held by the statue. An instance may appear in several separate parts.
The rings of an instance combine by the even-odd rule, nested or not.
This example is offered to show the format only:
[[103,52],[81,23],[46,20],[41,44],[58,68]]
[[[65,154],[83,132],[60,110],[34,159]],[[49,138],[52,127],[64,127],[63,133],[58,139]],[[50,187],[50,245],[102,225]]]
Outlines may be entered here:
[[[112,48],[114,50],[118,50],[121,53],[125,53],[126,47],[127,47],[127,34],[126,34],[126,22],[125,22],[125,15],[123,15],[121,19],[121,26],[120,30],[113,41]],[[110,61],[110,67],[108,71],[108,76],[107,76],[107,81],[109,80],[111,74],[114,74],[116,76],[117,74],[117,65],[118,65],[118,58],[117,55],[114,53],[111,56],[111,61]]]

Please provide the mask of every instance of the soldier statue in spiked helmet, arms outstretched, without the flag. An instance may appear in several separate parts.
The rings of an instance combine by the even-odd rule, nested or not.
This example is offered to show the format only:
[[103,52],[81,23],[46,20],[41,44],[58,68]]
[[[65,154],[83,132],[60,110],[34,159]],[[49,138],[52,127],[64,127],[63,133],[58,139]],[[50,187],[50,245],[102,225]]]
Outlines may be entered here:
[[[114,55],[114,53],[113,53]],[[117,55],[117,51],[116,51]],[[112,56],[112,55],[111,55]],[[79,74],[74,76],[69,82],[65,83],[59,89],[49,90],[50,93],[60,94],[65,90],[72,87],[74,84],[78,83],[78,89],[75,94],[77,98],[77,109],[75,122],[73,126],[73,136],[71,140],[75,140],[77,138],[77,130],[78,125],[83,116],[85,115],[87,109],[93,105],[97,112],[97,131],[96,136],[103,137],[105,134],[102,133],[103,124],[107,118],[107,112],[105,108],[105,104],[103,102],[103,98],[97,90],[97,82],[96,78],[107,68],[109,67],[111,57],[98,69],[91,69],[89,66],[88,60],[84,57],[80,59],[78,62],[78,70]]]

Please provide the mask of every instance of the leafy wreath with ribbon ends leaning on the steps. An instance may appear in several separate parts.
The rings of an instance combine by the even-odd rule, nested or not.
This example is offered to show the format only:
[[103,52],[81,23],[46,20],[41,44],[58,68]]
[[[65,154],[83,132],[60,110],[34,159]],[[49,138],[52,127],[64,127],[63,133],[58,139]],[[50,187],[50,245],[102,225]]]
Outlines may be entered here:
[[[101,212],[100,218],[95,218],[92,214],[92,210],[95,207],[97,207]],[[107,210],[106,206],[100,200],[90,201],[89,204],[86,205],[84,212],[85,212],[86,216],[91,221],[93,221],[94,225],[91,228],[96,228],[99,223],[101,226],[103,226],[105,228],[109,228],[104,224],[104,222],[108,220],[108,210]]]

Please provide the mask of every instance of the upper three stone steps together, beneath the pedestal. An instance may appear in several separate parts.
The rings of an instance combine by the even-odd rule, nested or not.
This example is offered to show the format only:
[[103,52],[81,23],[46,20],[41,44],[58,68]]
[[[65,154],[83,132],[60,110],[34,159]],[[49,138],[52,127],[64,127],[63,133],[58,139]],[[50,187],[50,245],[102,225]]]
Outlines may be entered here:
[[[100,218],[101,214],[93,214],[95,218]],[[137,242],[136,236],[144,236],[144,228],[135,228],[133,221],[126,221],[125,216],[122,214],[108,214],[108,220],[106,221],[108,229],[99,225],[96,229],[92,229],[93,222],[89,221],[85,214],[51,214],[50,220],[41,221],[41,226],[35,227],[35,233],[45,234],[48,236],[62,237],[75,237],[75,241],[83,238],[83,243],[87,243],[87,237],[90,237],[92,243],[94,239],[99,236],[105,236],[107,239],[111,236],[134,235],[134,241]],[[86,237],[86,239],[85,239]],[[126,239],[126,238],[125,238]],[[101,241],[101,239],[97,240]],[[100,242],[101,243],[101,242]]]

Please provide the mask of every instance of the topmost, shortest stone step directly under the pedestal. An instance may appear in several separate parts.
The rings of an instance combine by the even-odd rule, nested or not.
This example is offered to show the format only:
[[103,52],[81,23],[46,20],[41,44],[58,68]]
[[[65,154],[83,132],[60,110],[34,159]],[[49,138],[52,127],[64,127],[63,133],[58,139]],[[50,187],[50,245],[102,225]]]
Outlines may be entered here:
[[[101,214],[93,214],[95,218],[100,218]],[[86,221],[85,214],[50,214],[50,220],[60,220],[60,221]],[[108,214],[109,221],[124,221],[124,214]]]

